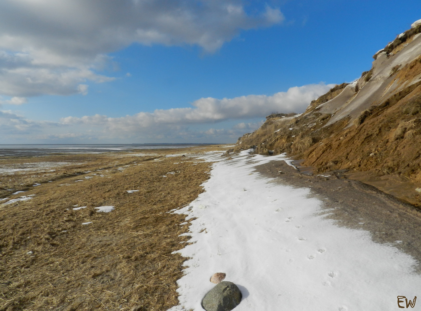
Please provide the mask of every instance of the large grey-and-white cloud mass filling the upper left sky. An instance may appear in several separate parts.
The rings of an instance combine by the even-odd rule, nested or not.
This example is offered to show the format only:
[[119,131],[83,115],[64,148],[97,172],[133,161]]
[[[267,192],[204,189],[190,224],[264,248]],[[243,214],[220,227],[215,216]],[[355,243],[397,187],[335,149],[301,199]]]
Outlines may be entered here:
[[86,81],[131,43],[198,45],[213,52],[241,29],[282,22],[277,8],[245,0],[0,1],[0,94],[86,94]]

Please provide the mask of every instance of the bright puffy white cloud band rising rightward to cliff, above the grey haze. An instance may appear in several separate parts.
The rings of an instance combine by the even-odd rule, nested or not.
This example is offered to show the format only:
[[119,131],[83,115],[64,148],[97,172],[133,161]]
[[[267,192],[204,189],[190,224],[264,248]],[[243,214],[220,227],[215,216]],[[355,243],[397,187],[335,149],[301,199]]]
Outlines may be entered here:
[[137,113],[121,118],[105,115],[67,117],[63,123],[103,125],[110,130],[133,131],[164,124],[213,123],[227,119],[265,117],[274,112],[303,112],[312,99],[325,94],[334,84],[324,83],[295,86],[286,92],[272,96],[248,95],[232,99],[201,98],[192,103],[194,107],[157,109],[153,113]]

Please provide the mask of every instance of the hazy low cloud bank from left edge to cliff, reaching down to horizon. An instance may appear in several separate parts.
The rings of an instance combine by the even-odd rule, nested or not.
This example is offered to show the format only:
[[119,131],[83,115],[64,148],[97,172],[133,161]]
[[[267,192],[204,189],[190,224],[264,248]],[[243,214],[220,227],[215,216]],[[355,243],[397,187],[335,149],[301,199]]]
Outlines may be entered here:
[[333,86],[324,83],[296,86],[271,96],[201,98],[193,102],[192,107],[140,112],[120,118],[86,115],[45,122],[31,121],[11,111],[0,111],[0,130],[5,133],[4,137],[26,134],[34,141],[233,142],[245,132],[257,129],[266,115],[304,112],[312,99],[325,94]]

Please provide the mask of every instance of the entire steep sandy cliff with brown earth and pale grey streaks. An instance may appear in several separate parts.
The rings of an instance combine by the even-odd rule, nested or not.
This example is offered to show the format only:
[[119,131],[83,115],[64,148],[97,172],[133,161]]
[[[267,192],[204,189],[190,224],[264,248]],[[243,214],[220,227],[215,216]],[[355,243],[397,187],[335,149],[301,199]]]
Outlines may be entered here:
[[287,153],[314,172],[341,172],[421,205],[421,23],[374,56],[373,67],[301,115],[270,115],[236,150]]

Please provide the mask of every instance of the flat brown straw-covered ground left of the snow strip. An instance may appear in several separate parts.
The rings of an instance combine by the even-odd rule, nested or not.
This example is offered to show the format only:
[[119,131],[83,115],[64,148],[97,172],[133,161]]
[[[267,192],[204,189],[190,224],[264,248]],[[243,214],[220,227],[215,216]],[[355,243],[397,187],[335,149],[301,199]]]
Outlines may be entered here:
[[[170,211],[197,198],[210,170],[209,163],[181,155],[215,148],[221,150],[0,159],[0,167],[69,163],[52,167],[55,172],[37,169],[0,177],[0,198],[35,194],[28,201],[0,204],[0,310],[141,306],[140,311],[176,305],[176,280],[185,258],[171,253],[187,241],[179,235],[188,224],[180,225],[185,216]],[[26,192],[10,195],[6,189]],[[115,210],[97,212],[98,206]]]

